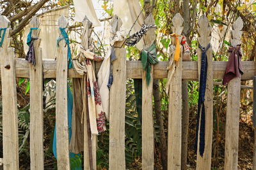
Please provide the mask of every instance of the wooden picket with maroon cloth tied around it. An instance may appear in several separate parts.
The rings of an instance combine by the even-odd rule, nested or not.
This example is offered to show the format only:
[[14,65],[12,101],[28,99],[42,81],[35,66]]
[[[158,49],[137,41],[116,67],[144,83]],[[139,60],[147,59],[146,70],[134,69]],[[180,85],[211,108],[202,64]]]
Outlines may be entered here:
[[[243,20],[237,18],[233,24],[231,45],[241,44]],[[241,78],[236,77],[228,83],[227,113],[226,113],[226,141],[225,141],[225,170],[237,170],[238,141],[239,141],[239,108],[240,108]]]

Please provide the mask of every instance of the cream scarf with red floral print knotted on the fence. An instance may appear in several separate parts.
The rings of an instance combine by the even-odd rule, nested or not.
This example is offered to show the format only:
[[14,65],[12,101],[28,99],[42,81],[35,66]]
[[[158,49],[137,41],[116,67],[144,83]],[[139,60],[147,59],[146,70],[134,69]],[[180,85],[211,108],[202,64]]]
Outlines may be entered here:
[[74,68],[76,69],[77,73],[84,76],[84,73],[87,72],[86,90],[88,99],[90,129],[92,134],[99,134],[100,132],[106,131],[102,100],[99,94],[95,71],[93,69],[91,61],[101,61],[103,59],[103,57],[95,55],[95,53],[85,50],[83,46],[81,46],[79,54],[73,60]]

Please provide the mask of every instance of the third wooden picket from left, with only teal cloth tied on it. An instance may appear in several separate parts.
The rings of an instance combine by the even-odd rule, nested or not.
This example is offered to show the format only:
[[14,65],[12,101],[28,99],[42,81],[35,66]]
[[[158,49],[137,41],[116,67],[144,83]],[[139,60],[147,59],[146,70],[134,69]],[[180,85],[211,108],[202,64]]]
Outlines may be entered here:
[[[68,21],[62,15],[58,20],[60,27],[67,27]],[[61,36],[61,34],[60,34]],[[67,108],[68,59],[65,40],[60,41],[56,62],[56,143],[58,169],[70,169]]]

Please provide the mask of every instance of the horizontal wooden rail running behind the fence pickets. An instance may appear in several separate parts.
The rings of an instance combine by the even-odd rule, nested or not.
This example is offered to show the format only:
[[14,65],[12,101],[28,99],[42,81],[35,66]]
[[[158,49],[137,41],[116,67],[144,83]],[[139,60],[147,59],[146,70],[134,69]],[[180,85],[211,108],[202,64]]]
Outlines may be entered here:
[[[100,62],[95,62],[95,72],[99,71]],[[21,78],[29,78],[28,62],[24,59],[15,59],[16,76]],[[227,61],[213,61],[213,78],[222,80],[225,73]],[[43,59],[44,77],[56,78],[56,60]],[[255,61],[242,61],[244,74],[241,80],[252,80],[255,76],[256,62]],[[167,78],[168,61],[160,61],[159,64],[154,66],[154,78]],[[142,66],[139,60],[127,60],[126,62],[127,78],[142,78]],[[76,70],[68,69],[69,78],[82,78]],[[195,80],[198,81],[198,67],[196,61],[182,62],[182,80]]]

